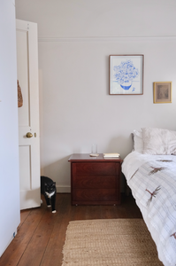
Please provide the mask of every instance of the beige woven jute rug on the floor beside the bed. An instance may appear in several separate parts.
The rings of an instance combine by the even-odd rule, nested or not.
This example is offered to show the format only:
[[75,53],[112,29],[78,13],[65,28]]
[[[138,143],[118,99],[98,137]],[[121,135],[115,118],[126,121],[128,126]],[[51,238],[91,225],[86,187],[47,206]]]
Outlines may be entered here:
[[70,222],[62,266],[161,266],[142,219]]

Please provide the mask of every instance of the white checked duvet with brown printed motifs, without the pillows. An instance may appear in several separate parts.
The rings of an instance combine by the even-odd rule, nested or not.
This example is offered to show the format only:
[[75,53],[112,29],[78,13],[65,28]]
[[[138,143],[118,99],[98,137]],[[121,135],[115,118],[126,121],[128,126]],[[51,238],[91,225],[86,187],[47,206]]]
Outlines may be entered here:
[[134,151],[123,161],[122,172],[157,245],[158,258],[165,266],[176,265],[176,156]]

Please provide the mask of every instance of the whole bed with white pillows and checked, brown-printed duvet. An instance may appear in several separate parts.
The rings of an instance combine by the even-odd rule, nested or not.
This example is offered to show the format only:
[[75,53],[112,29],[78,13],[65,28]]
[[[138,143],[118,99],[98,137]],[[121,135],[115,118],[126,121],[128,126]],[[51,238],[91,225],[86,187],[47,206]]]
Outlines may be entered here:
[[122,163],[144,222],[165,266],[176,265],[176,131],[134,130],[134,150]]

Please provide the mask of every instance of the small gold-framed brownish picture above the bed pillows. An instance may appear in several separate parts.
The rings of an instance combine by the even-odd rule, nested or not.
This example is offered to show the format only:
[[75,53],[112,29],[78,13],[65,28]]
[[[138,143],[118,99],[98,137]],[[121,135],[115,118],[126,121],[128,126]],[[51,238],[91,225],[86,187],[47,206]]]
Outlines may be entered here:
[[153,82],[154,104],[172,103],[172,82]]

